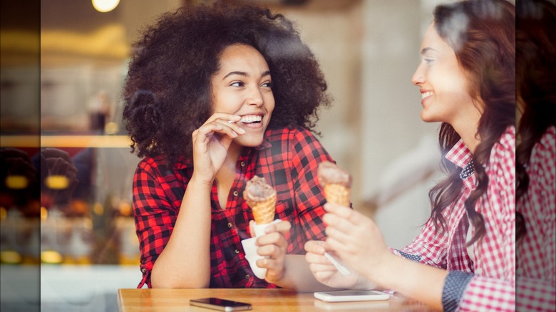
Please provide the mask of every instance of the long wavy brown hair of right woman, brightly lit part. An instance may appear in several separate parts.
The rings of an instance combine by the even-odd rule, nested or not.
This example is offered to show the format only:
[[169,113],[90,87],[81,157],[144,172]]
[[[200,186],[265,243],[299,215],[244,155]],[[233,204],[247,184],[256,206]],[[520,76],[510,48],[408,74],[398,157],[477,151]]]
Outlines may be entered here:
[[[485,235],[485,220],[475,210],[487,192],[490,150],[506,128],[515,125],[515,6],[505,0],[465,0],[436,7],[434,24],[439,36],[455,51],[460,66],[468,73],[472,96],[484,103],[476,136],[480,138],[472,161],[477,188],[465,200],[475,234],[468,244]],[[466,25],[466,27],[461,27]],[[441,125],[439,143],[443,155],[460,140],[448,123]],[[463,185],[461,169],[443,158],[446,180],[429,192],[433,205],[431,219],[436,229],[444,230],[442,212],[456,202]]]

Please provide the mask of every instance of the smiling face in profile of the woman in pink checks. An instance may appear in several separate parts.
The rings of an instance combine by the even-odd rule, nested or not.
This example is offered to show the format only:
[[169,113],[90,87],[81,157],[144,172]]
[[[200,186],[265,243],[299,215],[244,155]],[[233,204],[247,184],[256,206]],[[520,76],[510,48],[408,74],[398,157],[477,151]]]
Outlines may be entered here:
[[460,67],[453,48],[428,27],[421,44],[421,63],[411,82],[421,91],[421,119],[444,122],[458,128],[480,117],[470,95],[468,76]]

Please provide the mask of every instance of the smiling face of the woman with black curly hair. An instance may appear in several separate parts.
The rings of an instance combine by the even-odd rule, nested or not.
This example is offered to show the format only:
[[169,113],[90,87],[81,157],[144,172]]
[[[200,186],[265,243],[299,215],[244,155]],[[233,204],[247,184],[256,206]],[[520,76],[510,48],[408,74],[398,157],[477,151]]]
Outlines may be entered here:
[[246,133],[235,138],[235,144],[260,145],[274,110],[272,79],[261,53],[244,44],[225,48],[220,70],[212,75],[210,85],[213,113],[242,116],[238,125]]

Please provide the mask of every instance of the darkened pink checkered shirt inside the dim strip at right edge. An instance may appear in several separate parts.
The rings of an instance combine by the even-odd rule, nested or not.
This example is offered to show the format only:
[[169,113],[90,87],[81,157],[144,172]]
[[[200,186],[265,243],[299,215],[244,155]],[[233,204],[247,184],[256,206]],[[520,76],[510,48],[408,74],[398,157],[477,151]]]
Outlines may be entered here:
[[517,310],[556,311],[556,128],[550,127],[526,165],[527,193],[517,202],[527,234],[516,246]]

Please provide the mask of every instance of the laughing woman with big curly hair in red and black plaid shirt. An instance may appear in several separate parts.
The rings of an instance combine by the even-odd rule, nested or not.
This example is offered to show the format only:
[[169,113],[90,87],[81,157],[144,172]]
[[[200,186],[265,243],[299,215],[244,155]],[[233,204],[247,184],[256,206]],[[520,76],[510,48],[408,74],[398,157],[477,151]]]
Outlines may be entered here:
[[[311,130],[330,99],[292,22],[216,1],[164,14],[136,48],[123,118],[144,157],[133,182],[139,288],[323,288],[301,254],[324,237],[314,177],[333,160]],[[276,189],[282,219],[257,240],[264,280],[241,244],[255,175]]]

